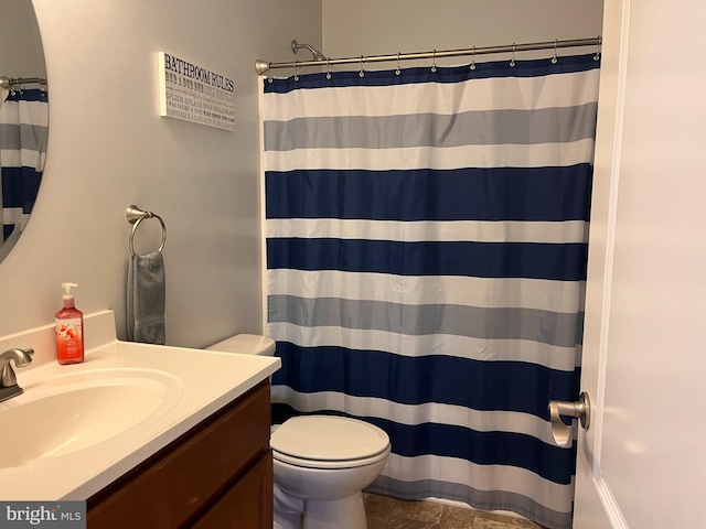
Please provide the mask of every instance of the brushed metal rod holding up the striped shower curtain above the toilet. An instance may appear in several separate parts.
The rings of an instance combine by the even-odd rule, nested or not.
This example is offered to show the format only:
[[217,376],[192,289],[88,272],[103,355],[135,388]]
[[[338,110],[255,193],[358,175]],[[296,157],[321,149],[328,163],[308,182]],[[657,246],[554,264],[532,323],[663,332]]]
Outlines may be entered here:
[[276,68],[303,68],[307,66],[333,66],[335,64],[365,64],[365,63],[382,63],[388,61],[409,61],[419,58],[443,58],[443,57],[460,57],[467,55],[488,55],[490,53],[515,53],[515,52],[530,52],[535,50],[557,50],[559,47],[579,47],[579,46],[597,46],[597,52],[600,53],[601,37],[596,36],[591,39],[573,39],[567,41],[549,41],[549,42],[530,42],[525,44],[506,44],[504,46],[481,46],[467,50],[435,50],[434,52],[418,52],[418,53],[395,53],[388,55],[371,55],[360,57],[345,57],[345,58],[329,58],[320,61],[295,61],[289,63],[268,63],[263,60],[255,61],[255,71],[258,75],[263,75],[270,69]]

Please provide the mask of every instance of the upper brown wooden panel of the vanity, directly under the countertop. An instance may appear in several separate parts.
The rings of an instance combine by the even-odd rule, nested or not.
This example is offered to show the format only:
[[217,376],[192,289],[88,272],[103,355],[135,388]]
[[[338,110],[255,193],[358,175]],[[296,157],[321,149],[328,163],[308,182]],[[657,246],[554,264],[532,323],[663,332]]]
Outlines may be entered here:
[[253,462],[271,458],[269,400],[263,382],[94,495],[88,527],[174,529],[199,516]]

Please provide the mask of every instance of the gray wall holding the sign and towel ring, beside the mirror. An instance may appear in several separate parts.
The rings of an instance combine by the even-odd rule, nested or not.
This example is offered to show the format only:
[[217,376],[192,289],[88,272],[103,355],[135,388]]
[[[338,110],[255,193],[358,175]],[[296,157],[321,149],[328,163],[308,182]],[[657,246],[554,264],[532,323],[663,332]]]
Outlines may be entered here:
[[[49,155],[34,214],[0,263],[0,335],[52,323],[60,283],[74,281],[77,306],[115,310],[125,336],[129,204],[169,230],[169,344],[261,332],[254,62],[289,60],[293,37],[320,45],[321,0],[33,3],[51,88]],[[231,74],[235,132],[158,115],[159,51]],[[156,245],[149,224],[138,233],[145,249]]]

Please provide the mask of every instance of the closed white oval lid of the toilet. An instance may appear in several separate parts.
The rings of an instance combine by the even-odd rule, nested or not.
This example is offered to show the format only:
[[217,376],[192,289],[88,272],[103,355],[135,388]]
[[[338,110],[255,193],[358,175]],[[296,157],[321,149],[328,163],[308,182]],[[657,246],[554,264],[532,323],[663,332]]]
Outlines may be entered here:
[[379,428],[345,417],[292,417],[270,438],[272,450],[302,460],[351,461],[371,457],[389,446]]

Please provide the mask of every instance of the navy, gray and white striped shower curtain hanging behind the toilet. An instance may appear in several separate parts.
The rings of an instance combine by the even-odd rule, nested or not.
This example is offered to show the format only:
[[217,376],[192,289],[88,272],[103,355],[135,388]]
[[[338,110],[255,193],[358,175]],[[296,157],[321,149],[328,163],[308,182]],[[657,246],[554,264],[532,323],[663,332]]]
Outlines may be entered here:
[[391,436],[371,490],[571,525],[599,63],[264,82],[275,402]]

